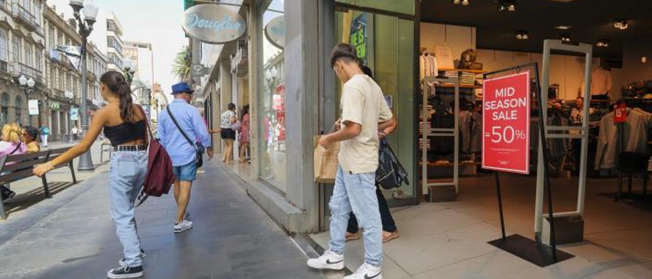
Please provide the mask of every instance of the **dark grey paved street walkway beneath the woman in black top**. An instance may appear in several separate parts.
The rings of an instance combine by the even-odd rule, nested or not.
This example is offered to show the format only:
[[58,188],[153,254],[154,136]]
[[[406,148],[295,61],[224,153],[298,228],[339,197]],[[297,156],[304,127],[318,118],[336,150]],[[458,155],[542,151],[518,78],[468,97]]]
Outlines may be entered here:
[[[136,210],[144,278],[323,278],[216,161],[192,188],[190,231],[172,232],[171,194]],[[105,170],[0,222],[1,231],[13,232],[0,233],[0,278],[106,278],[122,256],[106,180]],[[37,220],[25,226],[31,218]]]

